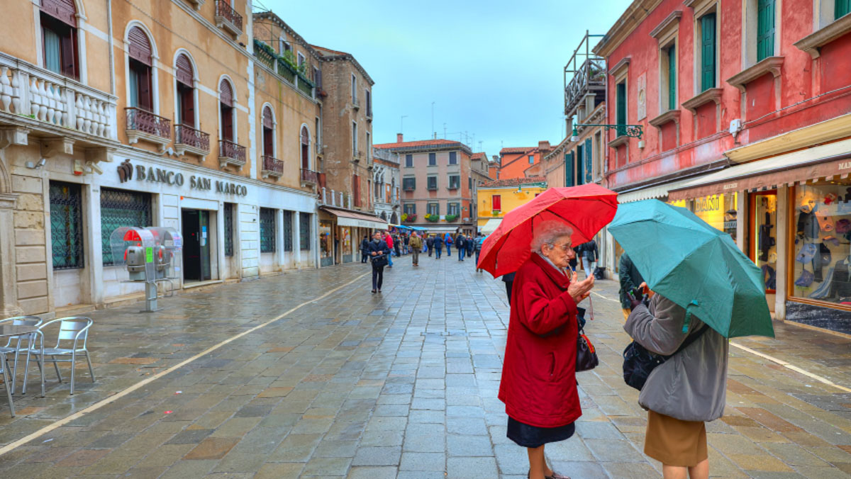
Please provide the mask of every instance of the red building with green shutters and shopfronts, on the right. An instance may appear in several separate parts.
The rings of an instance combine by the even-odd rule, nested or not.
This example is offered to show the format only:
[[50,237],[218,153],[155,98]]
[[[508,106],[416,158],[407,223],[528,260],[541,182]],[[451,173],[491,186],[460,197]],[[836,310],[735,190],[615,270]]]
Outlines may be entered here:
[[[762,268],[778,318],[846,333],[851,281],[835,271],[851,253],[848,10],[636,0],[594,48],[608,63],[606,123],[624,125],[608,131],[605,172],[621,201],[691,208]],[[821,259],[796,261],[805,248]]]

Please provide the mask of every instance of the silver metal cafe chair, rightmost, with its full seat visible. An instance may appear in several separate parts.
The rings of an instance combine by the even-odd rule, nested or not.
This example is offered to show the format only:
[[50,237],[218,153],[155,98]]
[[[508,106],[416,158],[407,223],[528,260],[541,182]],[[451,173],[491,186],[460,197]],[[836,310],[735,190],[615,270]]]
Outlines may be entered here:
[[[86,362],[89,363],[89,374],[94,383],[94,370],[92,370],[92,362],[89,359],[89,350],[86,349],[86,342],[89,339],[89,328],[94,321],[89,317],[84,316],[69,316],[60,317],[53,321],[45,322],[38,330],[38,345],[33,345],[26,351],[26,370],[24,372],[24,391],[26,393],[26,376],[30,372],[30,355],[37,356],[41,361],[39,368],[44,363],[44,360],[50,357],[54,363],[56,377],[59,382],[62,382],[62,375],[59,372],[57,362],[71,362],[71,395],[74,394],[74,379],[75,370],[77,368],[77,353],[86,355]],[[59,323],[59,334],[56,336],[56,345],[52,348],[44,347],[44,330],[51,324]],[[71,344],[69,344],[71,343]],[[82,343],[82,344],[81,344]],[[68,347],[70,346],[70,347]],[[71,356],[69,359],[57,359],[56,356]],[[44,374],[42,374],[42,388],[44,387]]]

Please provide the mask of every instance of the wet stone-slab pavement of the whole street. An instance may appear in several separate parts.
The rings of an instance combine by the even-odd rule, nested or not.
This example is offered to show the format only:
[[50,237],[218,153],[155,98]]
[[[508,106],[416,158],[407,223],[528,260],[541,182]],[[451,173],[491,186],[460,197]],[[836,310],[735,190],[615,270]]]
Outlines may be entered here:
[[[420,263],[397,259],[382,294],[358,263],[92,312],[96,382],[78,365],[69,396],[48,368],[41,398],[32,374],[15,419],[0,395],[0,476],[525,477],[496,399],[503,283],[471,260]],[[574,479],[659,477],[620,375],[617,284],[595,291],[601,364],[578,375],[577,434],[547,455]],[[730,348],[711,476],[851,476],[851,339],[775,329]]]

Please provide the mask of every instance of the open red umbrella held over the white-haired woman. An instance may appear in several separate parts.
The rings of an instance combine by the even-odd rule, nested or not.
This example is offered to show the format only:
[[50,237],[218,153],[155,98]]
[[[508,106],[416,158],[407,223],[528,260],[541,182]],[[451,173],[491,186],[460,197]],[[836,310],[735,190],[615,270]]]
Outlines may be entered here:
[[591,241],[597,231],[614,218],[618,194],[603,186],[588,185],[551,188],[532,201],[514,208],[482,244],[478,267],[499,277],[520,269],[532,254],[534,225],[558,220],[574,230],[574,244]]

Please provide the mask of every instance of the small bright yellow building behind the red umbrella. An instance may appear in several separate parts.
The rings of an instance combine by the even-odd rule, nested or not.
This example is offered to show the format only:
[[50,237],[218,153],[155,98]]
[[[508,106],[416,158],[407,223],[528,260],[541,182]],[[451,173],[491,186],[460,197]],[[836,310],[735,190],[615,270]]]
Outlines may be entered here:
[[542,176],[494,180],[478,187],[478,231],[486,235],[494,232],[505,214],[546,191]]

